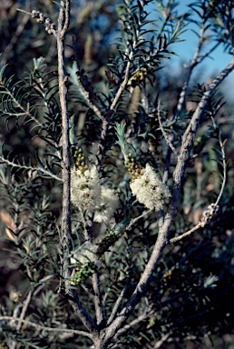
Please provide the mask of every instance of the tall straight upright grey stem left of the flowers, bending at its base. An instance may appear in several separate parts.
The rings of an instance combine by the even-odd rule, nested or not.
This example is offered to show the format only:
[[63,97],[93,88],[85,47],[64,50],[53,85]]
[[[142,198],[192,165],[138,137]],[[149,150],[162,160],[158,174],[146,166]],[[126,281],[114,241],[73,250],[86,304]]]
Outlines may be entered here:
[[[65,294],[64,297],[68,298],[69,303],[72,304],[73,310],[79,315],[83,324],[93,334],[97,335],[98,326],[94,323],[92,317],[83,304],[79,300],[76,292],[71,289],[69,280],[71,278],[70,268],[70,250],[72,249],[72,237],[71,237],[71,145],[69,139],[69,114],[68,114],[68,91],[67,91],[67,74],[64,65],[64,37],[68,26],[64,26],[64,10],[66,8],[66,16],[69,16],[70,0],[61,0],[61,7],[58,17],[58,30],[57,30],[57,51],[58,51],[58,84],[59,84],[59,98],[62,112],[62,126],[63,126],[63,213],[62,213],[62,237],[61,243],[63,245],[63,272],[65,281]],[[65,25],[69,22],[65,21]],[[64,30],[66,28],[66,30]],[[62,291],[61,291],[62,292]]]

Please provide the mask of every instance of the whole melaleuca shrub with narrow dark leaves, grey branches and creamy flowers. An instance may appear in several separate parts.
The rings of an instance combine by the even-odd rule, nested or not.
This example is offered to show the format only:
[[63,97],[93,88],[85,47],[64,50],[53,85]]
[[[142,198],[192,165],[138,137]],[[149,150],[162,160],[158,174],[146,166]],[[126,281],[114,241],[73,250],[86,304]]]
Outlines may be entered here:
[[[152,1],[96,2],[93,11],[108,19],[114,6],[119,18],[109,60],[96,45],[112,25],[93,20],[90,2],[80,4],[93,28],[83,57],[72,2],[54,6],[57,20],[46,5],[20,9],[54,40],[57,62],[39,55],[20,77],[0,71],[11,135],[0,156],[2,347],[160,348],[217,334],[220,322],[218,336],[229,333],[233,314],[218,303],[233,277],[233,238],[219,242],[229,174],[218,87],[233,59],[210,84],[190,86],[218,45],[233,48],[233,5],[214,3],[181,16],[174,1],[157,1],[152,20]],[[175,91],[163,74],[192,13],[199,45]],[[218,42],[204,53],[210,32]]]

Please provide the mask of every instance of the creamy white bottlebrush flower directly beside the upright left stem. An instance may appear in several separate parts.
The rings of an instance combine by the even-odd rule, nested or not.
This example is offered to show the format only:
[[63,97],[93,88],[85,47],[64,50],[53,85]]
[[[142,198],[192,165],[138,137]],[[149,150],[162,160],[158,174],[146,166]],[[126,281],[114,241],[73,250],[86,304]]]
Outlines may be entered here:
[[84,173],[73,168],[71,170],[71,200],[82,210],[93,210],[100,203],[101,185],[97,169],[93,166]]

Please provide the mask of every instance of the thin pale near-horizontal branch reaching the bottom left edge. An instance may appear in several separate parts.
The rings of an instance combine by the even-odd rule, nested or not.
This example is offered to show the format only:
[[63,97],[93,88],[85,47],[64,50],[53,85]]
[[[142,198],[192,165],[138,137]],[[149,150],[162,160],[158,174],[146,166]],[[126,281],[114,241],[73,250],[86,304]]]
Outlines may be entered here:
[[85,331],[79,331],[79,330],[70,330],[67,328],[56,328],[56,327],[46,327],[42,326],[41,324],[33,323],[32,321],[22,320],[20,318],[14,317],[14,316],[0,316],[0,321],[6,320],[6,321],[15,321],[19,322],[21,324],[28,324],[29,326],[32,326],[36,328],[39,331],[46,331],[46,332],[57,332],[57,333],[68,333],[68,334],[79,334],[84,335],[86,337],[92,338],[92,334],[89,334]]

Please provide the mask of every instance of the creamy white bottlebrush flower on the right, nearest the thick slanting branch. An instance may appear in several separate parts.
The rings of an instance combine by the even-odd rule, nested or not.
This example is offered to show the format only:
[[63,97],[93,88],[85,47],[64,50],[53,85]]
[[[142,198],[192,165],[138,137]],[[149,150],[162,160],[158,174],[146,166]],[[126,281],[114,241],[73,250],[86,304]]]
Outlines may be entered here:
[[147,208],[160,211],[164,203],[171,197],[168,187],[161,182],[159,176],[154,172],[151,165],[147,164],[144,174],[139,175],[130,184],[132,194],[136,195],[138,201]]

